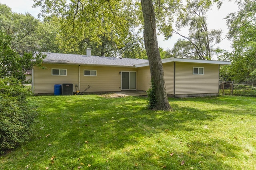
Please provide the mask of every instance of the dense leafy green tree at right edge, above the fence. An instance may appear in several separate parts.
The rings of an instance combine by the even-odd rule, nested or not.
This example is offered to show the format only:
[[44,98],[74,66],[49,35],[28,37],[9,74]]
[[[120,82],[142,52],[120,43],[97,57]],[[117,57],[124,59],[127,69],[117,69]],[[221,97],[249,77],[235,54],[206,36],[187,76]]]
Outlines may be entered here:
[[231,61],[231,66],[222,67],[221,75],[236,83],[256,83],[256,2],[237,0],[238,11],[226,19],[233,51],[220,51],[219,59]]

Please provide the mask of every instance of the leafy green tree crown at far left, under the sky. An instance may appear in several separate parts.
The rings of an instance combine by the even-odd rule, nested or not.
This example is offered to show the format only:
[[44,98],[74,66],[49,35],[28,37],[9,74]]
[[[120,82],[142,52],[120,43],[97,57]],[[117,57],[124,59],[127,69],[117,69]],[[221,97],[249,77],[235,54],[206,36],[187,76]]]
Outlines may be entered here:
[[11,48],[19,54],[34,52],[38,48],[39,20],[31,14],[18,14],[0,4],[0,30],[12,37]]

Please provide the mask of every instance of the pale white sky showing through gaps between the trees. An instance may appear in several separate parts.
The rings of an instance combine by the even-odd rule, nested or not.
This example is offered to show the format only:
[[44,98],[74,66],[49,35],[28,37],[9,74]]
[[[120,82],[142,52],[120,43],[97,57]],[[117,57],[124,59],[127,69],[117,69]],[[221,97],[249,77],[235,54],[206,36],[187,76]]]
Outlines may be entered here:
[[[1,4],[6,4],[10,8],[12,8],[12,12],[25,14],[28,12],[32,14],[35,18],[38,18],[37,15],[40,12],[40,8],[32,8],[34,1],[33,0],[0,0]],[[222,38],[226,37],[228,33],[228,27],[226,25],[226,20],[224,18],[227,14],[231,12],[235,12],[237,10],[234,2],[229,2],[228,0],[224,0],[222,7],[218,10],[216,6],[212,8],[212,10],[207,14],[208,16],[208,29],[222,29]],[[188,36],[188,30],[182,29],[181,32],[183,35]],[[158,36],[158,45],[162,47],[164,50],[172,49],[174,43],[181,38],[179,35],[174,34],[173,37],[168,39],[168,41],[164,41],[164,37],[162,35]],[[220,44],[214,45],[215,48],[220,47],[221,49],[226,49],[231,51],[230,41],[228,39],[224,39]]]

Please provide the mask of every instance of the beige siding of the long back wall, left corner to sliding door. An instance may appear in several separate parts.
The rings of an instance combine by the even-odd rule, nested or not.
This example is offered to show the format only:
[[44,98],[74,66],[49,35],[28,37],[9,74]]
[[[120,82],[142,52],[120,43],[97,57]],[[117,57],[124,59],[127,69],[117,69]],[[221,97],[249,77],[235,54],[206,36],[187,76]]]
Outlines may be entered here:
[[[34,68],[34,93],[54,93],[54,84],[78,85],[78,65],[43,64],[46,69]],[[52,68],[67,69],[67,76],[52,76]],[[96,76],[84,76],[84,70],[96,70]],[[121,71],[136,71],[136,68],[108,67],[108,66],[80,66],[80,91],[92,86],[86,92],[113,92],[121,91]]]

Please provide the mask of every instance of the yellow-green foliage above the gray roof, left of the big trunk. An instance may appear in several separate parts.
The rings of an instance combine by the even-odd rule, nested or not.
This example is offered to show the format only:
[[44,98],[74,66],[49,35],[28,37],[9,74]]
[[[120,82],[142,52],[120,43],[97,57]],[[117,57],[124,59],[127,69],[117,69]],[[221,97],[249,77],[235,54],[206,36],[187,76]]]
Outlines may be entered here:
[[84,54],[91,48],[93,55],[145,58],[132,0],[35,2],[44,19],[58,25],[56,43],[62,53]]

